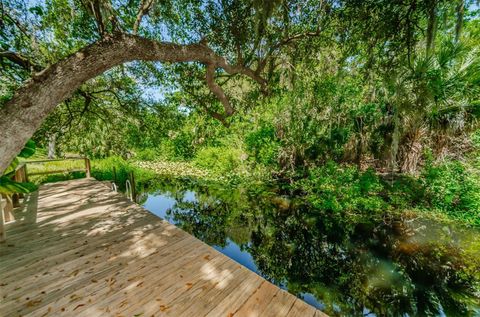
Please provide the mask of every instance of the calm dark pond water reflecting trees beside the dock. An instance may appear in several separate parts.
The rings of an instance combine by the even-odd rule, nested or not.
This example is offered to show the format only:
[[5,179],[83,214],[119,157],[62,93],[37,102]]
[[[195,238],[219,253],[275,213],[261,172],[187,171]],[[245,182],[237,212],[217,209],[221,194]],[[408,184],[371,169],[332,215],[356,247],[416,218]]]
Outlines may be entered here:
[[257,188],[156,180],[143,205],[330,315],[480,316],[480,232],[345,219]]

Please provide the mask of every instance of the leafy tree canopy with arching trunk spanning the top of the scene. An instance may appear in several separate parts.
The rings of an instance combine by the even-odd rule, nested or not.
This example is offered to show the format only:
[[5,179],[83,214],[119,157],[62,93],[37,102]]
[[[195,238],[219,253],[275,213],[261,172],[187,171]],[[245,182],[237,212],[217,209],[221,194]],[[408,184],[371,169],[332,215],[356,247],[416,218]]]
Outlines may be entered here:
[[470,146],[479,113],[475,8],[461,0],[4,1],[0,167],[35,131],[48,138],[73,128],[125,145],[111,131],[146,135],[162,124],[152,119],[146,129],[144,118],[159,114],[172,123],[156,131],[171,137],[206,114],[230,131],[244,120],[255,120],[253,134],[271,129],[282,168],[373,160],[414,172],[426,148],[443,155]]

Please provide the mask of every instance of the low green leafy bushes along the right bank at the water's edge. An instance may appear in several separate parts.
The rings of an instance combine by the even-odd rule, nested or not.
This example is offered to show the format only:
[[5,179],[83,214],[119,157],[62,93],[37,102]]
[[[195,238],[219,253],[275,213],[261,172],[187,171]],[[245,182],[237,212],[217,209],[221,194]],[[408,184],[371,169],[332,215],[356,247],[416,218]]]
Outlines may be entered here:
[[392,177],[381,179],[372,169],[361,172],[329,162],[293,186],[322,212],[374,217],[413,211],[480,225],[480,175],[473,166],[458,161],[430,163],[418,177]]

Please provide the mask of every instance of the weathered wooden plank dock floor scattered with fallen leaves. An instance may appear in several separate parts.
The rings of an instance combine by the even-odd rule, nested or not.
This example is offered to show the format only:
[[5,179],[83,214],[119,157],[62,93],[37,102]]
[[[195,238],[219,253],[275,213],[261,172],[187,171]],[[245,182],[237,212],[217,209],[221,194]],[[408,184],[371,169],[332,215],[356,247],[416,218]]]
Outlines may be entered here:
[[325,316],[80,179],[41,186],[0,244],[0,316]]

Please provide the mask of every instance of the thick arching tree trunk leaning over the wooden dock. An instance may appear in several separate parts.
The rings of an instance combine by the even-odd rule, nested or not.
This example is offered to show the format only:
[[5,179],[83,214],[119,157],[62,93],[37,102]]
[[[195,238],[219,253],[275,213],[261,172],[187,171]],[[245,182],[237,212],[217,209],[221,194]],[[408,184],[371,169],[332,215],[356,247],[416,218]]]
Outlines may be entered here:
[[[265,80],[252,69],[228,64],[206,45],[179,45],[130,34],[115,34],[33,75],[0,109],[0,173],[5,171],[47,115],[82,83],[116,65],[134,60],[200,62],[223,68],[229,74],[246,75],[265,85]],[[215,89],[218,88],[216,85]],[[225,106],[224,101],[222,103]],[[228,108],[225,110],[230,112]]]

